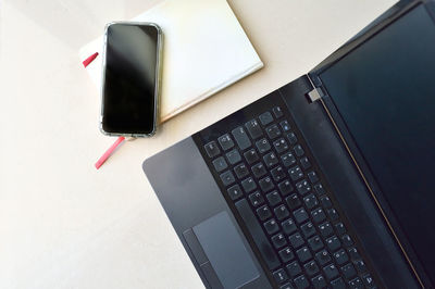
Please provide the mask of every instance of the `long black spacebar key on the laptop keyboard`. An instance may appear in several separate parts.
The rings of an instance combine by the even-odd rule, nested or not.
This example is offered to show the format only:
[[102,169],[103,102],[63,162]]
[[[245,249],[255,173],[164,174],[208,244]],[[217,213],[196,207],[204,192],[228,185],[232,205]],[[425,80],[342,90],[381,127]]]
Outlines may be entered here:
[[256,215],[252,213],[251,208],[246,199],[243,199],[236,203],[237,211],[239,212],[241,218],[245,221],[245,225],[248,227],[249,233],[252,236],[257,248],[265,261],[270,271],[276,268],[281,265],[281,262],[273,250],[271,243],[269,242],[260,223],[257,221]]

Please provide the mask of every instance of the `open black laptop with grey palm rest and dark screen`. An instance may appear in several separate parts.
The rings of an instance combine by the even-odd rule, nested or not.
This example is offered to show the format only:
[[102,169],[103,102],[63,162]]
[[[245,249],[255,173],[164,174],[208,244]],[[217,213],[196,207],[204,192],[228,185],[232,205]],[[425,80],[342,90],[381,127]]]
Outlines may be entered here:
[[207,288],[434,288],[435,2],[144,162]]

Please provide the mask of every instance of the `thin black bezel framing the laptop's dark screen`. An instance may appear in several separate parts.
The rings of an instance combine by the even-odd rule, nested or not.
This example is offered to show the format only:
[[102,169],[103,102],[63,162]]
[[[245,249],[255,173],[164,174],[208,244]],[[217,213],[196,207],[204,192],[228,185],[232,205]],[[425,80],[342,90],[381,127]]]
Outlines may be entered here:
[[[346,42],[343,47],[340,47],[337,51],[335,51],[332,55],[325,59],[322,63],[320,63],[316,67],[314,67],[308,75],[313,83],[314,87],[323,87],[323,83],[319,77],[324,71],[333,66],[335,63],[339,62],[344,56],[351,53],[356,48],[364,45],[369,39],[373,36],[382,32],[384,28],[393,24],[395,21],[403,16],[406,13],[415,9],[419,5],[424,5],[432,16],[433,21],[435,22],[435,2],[428,0],[403,0],[395,4],[391,9],[386,11],[380,17],[377,17],[374,22],[372,22],[369,26],[366,26],[363,30],[361,30],[358,35],[356,35],[352,39]],[[389,223],[393,227],[393,230],[397,239],[399,240],[399,246],[406,251],[409,261],[412,263],[410,264],[410,268],[417,271],[421,282],[424,286],[431,286],[432,281],[428,276],[425,274],[425,269],[423,265],[420,263],[415,252],[413,251],[410,242],[408,241],[403,230],[401,230],[399,223],[394,216],[393,210],[386,202],[385,198],[383,197],[382,190],[377,183],[375,181],[375,177],[369,169],[369,165],[365,162],[364,158],[362,156],[358,144],[356,143],[355,139],[352,138],[350,131],[348,130],[344,120],[340,116],[340,113],[335,105],[333,99],[327,95],[326,89],[322,89],[324,96],[322,97],[322,104],[328,111],[331,117],[333,118],[335,125],[337,126],[340,135],[343,136],[346,144],[351,152],[355,161],[357,162],[362,175],[364,176],[365,180],[368,181],[371,190],[373,191],[375,202],[377,202],[383,212],[385,213],[385,217],[387,218],[386,223]]]

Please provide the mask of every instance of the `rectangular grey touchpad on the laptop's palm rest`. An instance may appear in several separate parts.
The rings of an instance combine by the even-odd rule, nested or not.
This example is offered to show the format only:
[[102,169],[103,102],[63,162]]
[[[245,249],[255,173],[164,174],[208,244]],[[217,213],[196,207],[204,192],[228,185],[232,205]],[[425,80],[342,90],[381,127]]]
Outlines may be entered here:
[[223,211],[192,230],[224,288],[238,288],[260,277],[228,213]]

